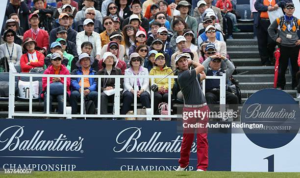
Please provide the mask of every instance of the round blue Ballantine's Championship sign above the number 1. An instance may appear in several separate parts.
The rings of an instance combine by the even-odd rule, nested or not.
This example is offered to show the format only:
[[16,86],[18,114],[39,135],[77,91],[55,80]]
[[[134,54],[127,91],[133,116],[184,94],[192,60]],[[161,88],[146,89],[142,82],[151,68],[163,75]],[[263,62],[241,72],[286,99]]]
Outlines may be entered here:
[[300,109],[294,98],[279,89],[253,93],[243,105],[241,123],[247,137],[263,148],[279,148],[291,142],[300,128]]

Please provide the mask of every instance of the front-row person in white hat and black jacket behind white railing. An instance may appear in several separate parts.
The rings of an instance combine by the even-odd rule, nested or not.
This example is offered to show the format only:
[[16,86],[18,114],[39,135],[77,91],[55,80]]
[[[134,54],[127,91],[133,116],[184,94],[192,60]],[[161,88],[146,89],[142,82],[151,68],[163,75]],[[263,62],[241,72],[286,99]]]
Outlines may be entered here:
[[[122,75],[122,71],[120,68],[115,67],[117,62],[117,57],[111,52],[105,52],[103,54],[102,66],[103,68],[97,72],[97,75],[103,75],[101,77],[101,81],[98,81],[98,87],[101,85],[101,106],[100,113],[107,114],[107,105],[108,102],[113,102],[115,95],[106,95],[104,90],[115,89],[115,78],[109,78],[109,75]],[[123,78],[120,81],[121,88],[123,88]]]

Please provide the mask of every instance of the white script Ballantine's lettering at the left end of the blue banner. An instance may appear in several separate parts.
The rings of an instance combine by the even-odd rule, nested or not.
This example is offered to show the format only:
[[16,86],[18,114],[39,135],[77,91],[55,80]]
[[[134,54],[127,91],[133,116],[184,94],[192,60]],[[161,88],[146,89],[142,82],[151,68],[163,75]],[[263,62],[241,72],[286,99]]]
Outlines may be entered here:
[[[67,140],[66,135],[60,134],[53,140],[39,140],[44,131],[36,131],[31,140],[21,140],[24,134],[24,126],[11,126],[0,133],[0,151],[8,149],[14,151],[79,151],[84,138],[78,137],[78,141]],[[12,135],[9,133],[13,133]],[[7,136],[7,134],[11,136]]]

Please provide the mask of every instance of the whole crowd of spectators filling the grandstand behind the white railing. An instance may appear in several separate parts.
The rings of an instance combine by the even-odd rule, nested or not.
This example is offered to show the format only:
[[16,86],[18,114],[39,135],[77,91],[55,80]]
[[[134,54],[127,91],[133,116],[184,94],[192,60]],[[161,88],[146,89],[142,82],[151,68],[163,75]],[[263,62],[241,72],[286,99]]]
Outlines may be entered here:
[[[50,86],[47,86],[47,80],[43,78],[42,94],[46,95],[47,87],[51,88],[50,103],[56,98],[59,113],[63,112],[63,93],[60,88],[64,83],[59,75],[167,75],[176,69],[175,58],[182,53],[205,64],[209,68],[206,70],[209,74],[206,75],[222,75],[222,72],[215,71],[223,71],[231,83],[229,75],[234,66],[227,59],[225,41],[233,38],[232,31],[240,31],[237,18],[232,12],[234,4],[231,2],[9,0],[0,42],[0,58],[5,57],[8,62],[20,66],[21,72],[39,68],[45,74],[57,74],[58,77],[50,78]],[[253,2],[259,15],[263,10],[258,3],[259,1],[255,4]],[[283,6],[285,1],[280,0],[278,4]],[[276,5],[272,3],[272,6]],[[265,16],[266,14],[263,17]],[[257,18],[257,14],[255,17]],[[260,23],[263,17],[260,15],[257,18]],[[258,30],[257,36],[267,36],[260,33],[262,32]],[[260,54],[267,53],[266,50],[260,47]],[[267,58],[268,56],[262,58],[263,63],[268,63]],[[158,80],[159,78],[155,79]],[[81,78],[68,79],[67,91],[72,113],[77,112],[81,89],[84,90],[85,98],[90,98],[97,105],[98,84],[101,84],[101,114],[108,113],[107,104],[114,97],[103,91],[114,89],[113,78],[101,78],[101,81],[84,78],[84,86],[81,86]],[[134,90],[137,90],[142,106],[150,108],[151,83],[148,79],[138,79],[138,89],[133,88],[134,80],[129,78],[124,81],[122,79],[121,85],[125,103],[121,113],[125,114],[130,110]],[[168,101],[168,79],[157,85],[159,90],[154,93],[155,111],[161,102]],[[179,88],[172,79],[171,88],[174,86]],[[213,82],[211,87],[208,91],[214,90],[216,94],[218,84]],[[176,90],[180,91],[180,88]],[[180,92],[178,98],[182,99]],[[213,98],[207,101],[215,103],[217,97],[213,95]],[[235,95],[230,95],[228,101],[237,104]]]

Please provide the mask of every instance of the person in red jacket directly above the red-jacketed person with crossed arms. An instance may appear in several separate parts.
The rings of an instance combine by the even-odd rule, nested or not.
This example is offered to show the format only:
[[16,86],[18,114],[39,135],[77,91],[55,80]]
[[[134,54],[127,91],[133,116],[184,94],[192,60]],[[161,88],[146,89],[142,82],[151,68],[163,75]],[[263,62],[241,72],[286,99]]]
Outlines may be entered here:
[[36,41],[36,47],[39,48],[39,52],[46,54],[49,47],[49,34],[46,30],[39,28],[40,19],[37,14],[29,15],[29,24],[31,28],[24,33],[24,39],[32,38]]

